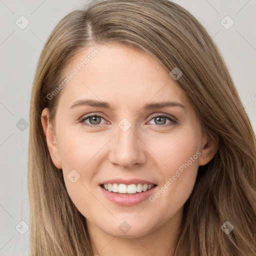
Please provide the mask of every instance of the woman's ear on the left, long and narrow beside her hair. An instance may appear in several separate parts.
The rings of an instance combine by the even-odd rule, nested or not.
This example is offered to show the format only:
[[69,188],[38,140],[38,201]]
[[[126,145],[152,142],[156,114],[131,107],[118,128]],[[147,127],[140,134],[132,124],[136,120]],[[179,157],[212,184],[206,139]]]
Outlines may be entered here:
[[55,132],[52,125],[49,123],[49,109],[47,107],[45,107],[42,110],[41,123],[42,123],[43,133],[49,149],[51,160],[58,169],[61,169],[62,165],[61,165],[60,157],[58,153]]

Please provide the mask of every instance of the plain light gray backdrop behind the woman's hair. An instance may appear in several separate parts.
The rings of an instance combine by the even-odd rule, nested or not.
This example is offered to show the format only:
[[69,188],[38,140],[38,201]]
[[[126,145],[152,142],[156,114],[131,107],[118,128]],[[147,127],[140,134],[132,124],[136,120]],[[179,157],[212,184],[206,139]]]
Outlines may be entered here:
[[[84,4],[79,0],[0,0],[0,256],[28,255],[27,148],[32,79],[40,51],[65,14]],[[244,107],[256,127],[256,0],[174,0],[190,11],[216,41]],[[29,24],[20,29],[21,16]],[[226,16],[234,21],[224,28]],[[225,21],[224,21],[225,22]],[[229,21],[227,21],[228,24]],[[255,129],[254,129],[255,130]]]

